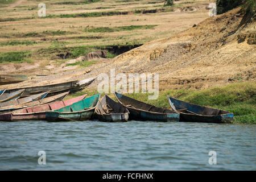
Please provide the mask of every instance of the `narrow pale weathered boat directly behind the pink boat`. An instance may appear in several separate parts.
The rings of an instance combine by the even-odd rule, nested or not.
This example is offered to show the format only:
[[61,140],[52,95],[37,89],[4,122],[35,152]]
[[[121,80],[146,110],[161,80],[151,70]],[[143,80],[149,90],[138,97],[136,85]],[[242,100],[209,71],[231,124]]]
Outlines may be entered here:
[[61,94],[57,94],[56,96],[51,96],[51,97],[43,98],[42,100],[28,102],[28,103],[25,103],[25,104],[19,104],[19,105],[14,105],[14,106],[2,107],[0,109],[0,114],[9,113],[9,112],[14,111],[14,110],[23,109],[25,107],[31,107],[31,106],[36,106],[36,105],[43,105],[43,104],[48,104],[50,102],[55,102],[55,101],[62,101],[68,95],[68,93],[69,92],[64,92],[64,93],[61,93]]

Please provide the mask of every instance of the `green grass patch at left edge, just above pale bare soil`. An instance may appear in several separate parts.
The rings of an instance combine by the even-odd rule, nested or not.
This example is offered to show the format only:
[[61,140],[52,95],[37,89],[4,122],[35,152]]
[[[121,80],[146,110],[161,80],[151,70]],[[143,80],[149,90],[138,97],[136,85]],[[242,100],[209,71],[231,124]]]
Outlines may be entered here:
[[0,63],[23,63],[31,62],[28,57],[31,55],[29,51],[4,52],[0,53]]

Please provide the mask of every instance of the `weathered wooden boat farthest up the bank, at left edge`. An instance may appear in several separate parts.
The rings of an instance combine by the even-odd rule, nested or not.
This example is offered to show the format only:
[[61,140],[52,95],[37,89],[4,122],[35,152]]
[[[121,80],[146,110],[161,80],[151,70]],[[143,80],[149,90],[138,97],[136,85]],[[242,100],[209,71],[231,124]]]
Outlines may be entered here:
[[0,75],[0,85],[15,84],[28,80],[26,75]]

